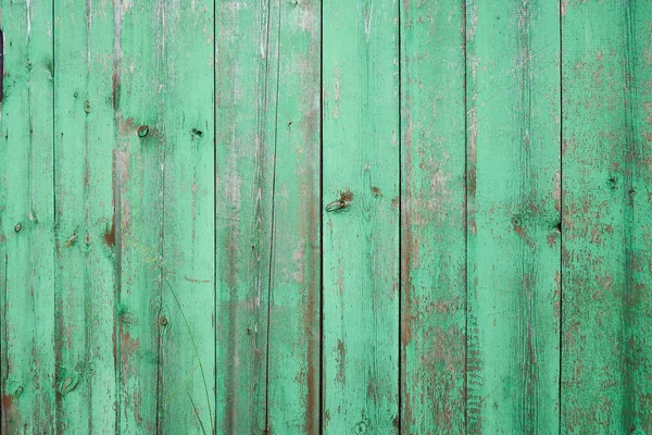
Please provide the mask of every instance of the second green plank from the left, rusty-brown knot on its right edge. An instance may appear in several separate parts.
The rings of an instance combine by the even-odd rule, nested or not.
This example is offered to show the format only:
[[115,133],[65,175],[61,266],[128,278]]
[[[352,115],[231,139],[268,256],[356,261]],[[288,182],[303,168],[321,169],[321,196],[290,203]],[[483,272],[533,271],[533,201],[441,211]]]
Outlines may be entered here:
[[58,430],[115,433],[113,2],[54,2]]

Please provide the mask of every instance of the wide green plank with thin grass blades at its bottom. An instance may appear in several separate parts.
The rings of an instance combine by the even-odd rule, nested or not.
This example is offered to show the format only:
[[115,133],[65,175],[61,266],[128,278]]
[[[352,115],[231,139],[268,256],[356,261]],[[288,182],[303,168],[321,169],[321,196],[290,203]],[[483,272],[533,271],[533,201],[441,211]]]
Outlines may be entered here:
[[213,3],[115,4],[120,427],[214,432]]

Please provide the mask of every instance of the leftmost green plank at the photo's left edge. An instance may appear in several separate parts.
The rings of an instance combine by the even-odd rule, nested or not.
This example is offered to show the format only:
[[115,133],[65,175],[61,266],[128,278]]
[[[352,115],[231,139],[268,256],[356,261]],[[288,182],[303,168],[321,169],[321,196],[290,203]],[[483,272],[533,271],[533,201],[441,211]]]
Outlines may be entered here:
[[2,433],[54,431],[51,2],[2,1],[0,380]]

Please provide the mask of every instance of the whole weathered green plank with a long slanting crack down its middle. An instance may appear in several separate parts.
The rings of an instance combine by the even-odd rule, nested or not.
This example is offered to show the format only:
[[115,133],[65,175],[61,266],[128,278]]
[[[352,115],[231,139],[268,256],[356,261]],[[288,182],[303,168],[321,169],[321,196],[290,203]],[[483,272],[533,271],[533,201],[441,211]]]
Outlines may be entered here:
[[319,3],[216,8],[217,431],[313,434]]

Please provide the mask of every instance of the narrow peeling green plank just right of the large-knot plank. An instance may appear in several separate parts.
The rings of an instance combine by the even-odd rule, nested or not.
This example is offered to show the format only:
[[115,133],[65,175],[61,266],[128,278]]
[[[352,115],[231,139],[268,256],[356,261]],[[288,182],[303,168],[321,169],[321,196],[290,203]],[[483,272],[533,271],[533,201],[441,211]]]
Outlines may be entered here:
[[464,2],[401,7],[401,430],[464,433]]

